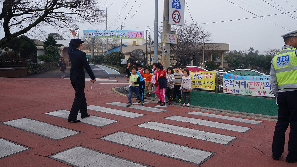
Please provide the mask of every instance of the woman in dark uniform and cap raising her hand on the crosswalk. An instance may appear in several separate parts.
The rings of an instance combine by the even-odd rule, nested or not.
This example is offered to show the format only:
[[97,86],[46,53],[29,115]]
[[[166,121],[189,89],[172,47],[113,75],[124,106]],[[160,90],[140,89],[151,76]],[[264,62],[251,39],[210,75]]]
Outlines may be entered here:
[[81,118],[89,117],[90,115],[87,113],[87,102],[85,96],[85,67],[87,73],[91,78],[91,82],[96,81],[96,77],[90,67],[90,64],[87,60],[86,53],[81,51],[82,43],[81,39],[75,39],[76,31],[73,29],[70,30],[73,35],[72,39],[69,43],[68,55],[71,61],[70,68],[70,81],[75,90],[75,98],[72,104],[72,108],[70,114],[68,116],[68,122],[80,122],[76,117],[78,115],[78,110],[80,111]]

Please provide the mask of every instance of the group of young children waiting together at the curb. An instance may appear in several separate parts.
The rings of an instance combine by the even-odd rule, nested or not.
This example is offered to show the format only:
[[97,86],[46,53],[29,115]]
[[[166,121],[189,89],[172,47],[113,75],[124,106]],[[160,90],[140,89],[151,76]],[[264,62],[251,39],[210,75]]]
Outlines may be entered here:
[[[164,63],[153,63],[153,69],[151,74],[148,68],[142,70],[141,64],[137,62],[133,63],[132,70],[129,72],[129,66],[126,69],[129,80],[129,102],[127,106],[132,105],[132,93],[135,92],[139,100],[138,103],[143,105],[143,93],[144,87],[146,88],[146,96],[151,97],[151,93],[156,94],[156,100],[158,104],[165,105],[172,104],[172,100],[176,100],[176,94],[178,96],[178,102],[181,102],[182,92],[184,92],[184,104],[186,106],[186,99],[188,99],[187,107],[190,106],[190,92],[192,78],[189,76],[189,70],[187,67],[183,67],[183,71],[180,71],[180,66],[175,65],[173,71],[172,67],[168,67],[167,71]],[[164,70],[165,69],[165,70]],[[138,89],[137,89],[138,88]],[[165,95],[168,97],[168,101],[165,102]]]

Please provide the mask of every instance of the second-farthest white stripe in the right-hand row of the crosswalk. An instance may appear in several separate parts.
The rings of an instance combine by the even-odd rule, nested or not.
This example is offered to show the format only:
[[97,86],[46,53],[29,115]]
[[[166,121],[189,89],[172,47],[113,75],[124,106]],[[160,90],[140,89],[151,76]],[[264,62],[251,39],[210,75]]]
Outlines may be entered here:
[[169,117],[166,117],[165,119],[181,121],[181,122],[189,122],[192,124],[204,125],[208,127],[216,127],[219,129],[232,130],[236,132],[247,132],[248,130],[252,129],[249,127],[230,125],[230,124],[225,124],[221,122],[213,122],[213,121],[207,121],[203,119],[189,118],[189,117],[177,116],[177,115],[169,116]]

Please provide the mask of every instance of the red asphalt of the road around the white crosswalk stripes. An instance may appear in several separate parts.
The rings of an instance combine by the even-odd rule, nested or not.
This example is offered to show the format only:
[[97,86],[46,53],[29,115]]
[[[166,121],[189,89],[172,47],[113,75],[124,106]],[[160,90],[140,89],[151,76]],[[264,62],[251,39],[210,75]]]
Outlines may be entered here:
[[[111,91],[111,88],[116,87],[115,84],[108,85],[94,83],[92,85],[93,89],[90,89],[89,82],[86,82],[85,93],[88,105],[98,105],[102,107],[132,111],[132,109],[129,109],[127,107],[106,104],[110,102],[128,102],[127,97],[124,97],[120,94]],[[274,133],[274,126],[276,122],[260,120],[263,121],[263,123],[261,123],[260,125],[252,125],[248,123],[228,121],[224,119],[216,119],[205,116],[189,116],[189,114],[185,113],[189,111],[198,110],[173,105],[164,108],[168,111],[163,111],[159,113],[142,110],[132,111],[140,114],[146,114],[146,116],[141,116],[138,118],[127,118],[124,116],[88,110],[88,113],[91,115],[119,121],[104,127],[96,127],[83,123],[69,123],[66,119],[43,114],[61,109],[71,109],[74,98],[74,90],[71,86],[69,79],[0,78],[0,90],[0,122],[26,117],[82,132],[74,136],[54,141],[49,138],[45,138],[14,127],[0,124],[1,138],[14,141],[16,143],[32,148],[24,152],[20,152],[0,159],[0,166],[3,167],[69,166],[62,162],[53,160],[47,156],[77,145],[89,147],[91,149],[106,152],[108,154],[116,155],[150,166],[198,166],[173,158],[156,155],[150,152],[145,152],[138,149],[98,139],[102,136],[106,136],[117,131],[129,132],[136,135],[156,138],[158,140],[163,140],[197,149],[215,152],[216,154],[213,157],[206,160],[204,163],[200,165],[202,167],[297,166],[297,163],[285,162],[285,157],[288,152],[287,149],[285,149],[279,161],[272,160],[271,145]],[[144,106],[148,107],[152,107],[154,105],[156,104],[144,104]],[[233,132],[230,130],[222,130],[213,127],[190,124],[186,122],[162,119],[164,117],[172,115],[187,116],[198,119],[207,119],[222,123],[230,123],[233,125],[251,127],[252,129],[247,131],[246,133],[240,133]],[[192,129],[225,134],[229,136],[237,136],[238,138],[235,141],[231,142],[230,145],[223,145],[136,126],[138,124],[149,121],[161,122],[182,127],[189,127]],[[286,135],[286,141],[288,141],[288,132]],[[285,148],[287,148],[287,142]]]

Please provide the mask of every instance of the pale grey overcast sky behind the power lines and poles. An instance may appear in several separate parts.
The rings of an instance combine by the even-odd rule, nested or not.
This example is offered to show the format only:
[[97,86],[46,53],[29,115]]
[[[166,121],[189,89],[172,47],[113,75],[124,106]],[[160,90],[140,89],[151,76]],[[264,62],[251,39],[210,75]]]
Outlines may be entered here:
[[[169,3],[172,3],[172,1],[173,0],[169,0]],[[187,4],[194,21],[204,23],[205,29],[212,32],[213,38],[211,42],[229,43],[230,50],[248,50],[249,47],[253,47],[255,50],[258,49],[260,53],[264,53],[268,48],[281,49],[284,45],[284,41],[280,36],[289,30],[297,29],[297,12],[293,12],[297,11],[296,0],[265,0],[267,3],[264,0],[229,1],[187,0]],[[121,24],[123,24],[124,30],[145,31],[145,27],[150,26],[153,38],[154,0],[98,0],[102,10],[105,10],[105,2],[108,7],[108,29],[117,30],[120,29]],[[158,7],[158,23],[162,25],[163,1],[159,0]],[[185,5],[184,18],[188,23],[192,23],[189,11]],[[286,11],[292,13],[251,18],[279,14]],[[243,18],[251,19],[228,21]],[[93,27],[91,27],[91,25],[79,25],[79,27],[81,34],[83,34],[83,29],[106,29],[105,22]],[[52,28],[44,29],[48,31],[48,33],[54,32]],[[1,37],[3,37],[3,30],[1,32]],[[64,37],[70,38],[70,36]]]

